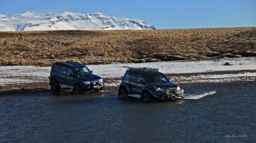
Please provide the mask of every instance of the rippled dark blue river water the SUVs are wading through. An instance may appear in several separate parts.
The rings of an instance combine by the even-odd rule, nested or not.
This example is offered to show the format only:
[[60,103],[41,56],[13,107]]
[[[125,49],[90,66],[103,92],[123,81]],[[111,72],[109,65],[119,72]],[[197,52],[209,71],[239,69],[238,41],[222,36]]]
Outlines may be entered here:
[[190,84],[186,98],[117,91],[0,96],[0,142],[256,142],[256,83]]

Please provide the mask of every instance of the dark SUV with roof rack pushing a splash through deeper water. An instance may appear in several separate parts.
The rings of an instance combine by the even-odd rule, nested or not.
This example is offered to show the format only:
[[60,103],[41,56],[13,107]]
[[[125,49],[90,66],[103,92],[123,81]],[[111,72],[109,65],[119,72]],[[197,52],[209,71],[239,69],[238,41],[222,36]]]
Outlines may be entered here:
[[184,91],[157,68],[128,68],[119,86],[118,96],[137,97],[144,101],[180,99],[184,97]]

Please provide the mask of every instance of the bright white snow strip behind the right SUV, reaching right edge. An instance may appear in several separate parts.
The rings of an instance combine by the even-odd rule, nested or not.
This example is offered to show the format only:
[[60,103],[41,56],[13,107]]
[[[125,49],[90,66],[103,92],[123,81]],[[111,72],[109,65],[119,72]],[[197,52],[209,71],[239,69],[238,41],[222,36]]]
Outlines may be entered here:
[[[224,66],[228,62],[232,66]],[[228,70],[256,70],[256,57],[204,61],[164,61],[142,64],[108,64],[88,66],[102,77],[121,77],[127,67],[158,68],[162,73],[209,73]]]

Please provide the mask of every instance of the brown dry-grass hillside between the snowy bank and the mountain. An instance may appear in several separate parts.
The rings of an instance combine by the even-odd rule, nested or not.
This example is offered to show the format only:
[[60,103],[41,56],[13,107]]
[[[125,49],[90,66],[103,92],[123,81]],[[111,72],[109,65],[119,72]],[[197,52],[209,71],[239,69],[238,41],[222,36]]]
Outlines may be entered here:
[[0,32],[0,65],[255,57],[256,28]]

